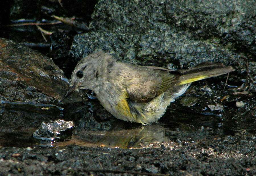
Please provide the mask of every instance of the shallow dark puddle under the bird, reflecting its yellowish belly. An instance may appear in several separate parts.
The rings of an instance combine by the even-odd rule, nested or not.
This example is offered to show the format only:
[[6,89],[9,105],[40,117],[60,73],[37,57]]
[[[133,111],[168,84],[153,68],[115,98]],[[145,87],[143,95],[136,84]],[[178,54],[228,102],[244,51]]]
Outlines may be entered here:
[[[29,107],[29,108],[28,108]],[[76,144],[80,146],[140,148],[150,147],[152,143],[163,141],[197,141],[208,135],[236,135],[239,131],[231,129],[232,124],[224,122],[219,114],[198,114],[192,111],[167,109],[159,123],[141,125],[124,122],[115,118],[97,122],[93,117],[74,119],[72,136],[61,139],[38,140],[32,137],[43,121],[63,117],[62,109],[45,108],[43,105],[1,102],[0,145],[12,147],[56,147]],[[24,108],[26,111],[24,111]],[[33,110],[34,109],[34,110]],[[48,111],[46,112],[46,109]],[[58,114],[59,113],[59,114]],[[69,117],[68,120],[71,117]],[[229,126],[230,125],[230,126]]]

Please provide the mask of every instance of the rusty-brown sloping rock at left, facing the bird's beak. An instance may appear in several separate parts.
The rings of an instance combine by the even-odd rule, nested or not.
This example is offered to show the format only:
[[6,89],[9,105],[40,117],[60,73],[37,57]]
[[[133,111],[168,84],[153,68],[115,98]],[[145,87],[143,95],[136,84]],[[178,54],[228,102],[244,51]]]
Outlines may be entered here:
[[68,81],[50,58],[0,39],[0,99],[58,104]]

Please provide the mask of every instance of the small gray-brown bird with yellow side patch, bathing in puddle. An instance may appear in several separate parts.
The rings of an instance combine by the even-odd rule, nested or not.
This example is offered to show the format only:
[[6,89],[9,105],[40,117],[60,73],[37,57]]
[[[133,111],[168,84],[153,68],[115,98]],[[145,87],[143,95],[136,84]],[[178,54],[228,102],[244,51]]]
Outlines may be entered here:
[[95,52],[79,61],[71,75],[71,88],[64,98],[75,90],[89,89],[116,118],[151,124],[192,82],[231,71],[234,71],[231,66],[209,62],[188,70],[171,71],[117,62],[109,54]]

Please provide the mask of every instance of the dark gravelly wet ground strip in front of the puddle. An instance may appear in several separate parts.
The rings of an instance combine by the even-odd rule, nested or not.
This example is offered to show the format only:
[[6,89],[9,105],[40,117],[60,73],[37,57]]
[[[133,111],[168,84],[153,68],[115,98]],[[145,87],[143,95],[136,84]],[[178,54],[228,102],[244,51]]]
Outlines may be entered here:
[[[168,132],[167,132],[168,133]],[[182,132],[181,132],[182,133]],[[180,133],[180,134],[181,134]],[[167,135],[175,136],[170,132]],[[204,135],[141,149],[1,147],[2,175],[255,175],[255,136]]]

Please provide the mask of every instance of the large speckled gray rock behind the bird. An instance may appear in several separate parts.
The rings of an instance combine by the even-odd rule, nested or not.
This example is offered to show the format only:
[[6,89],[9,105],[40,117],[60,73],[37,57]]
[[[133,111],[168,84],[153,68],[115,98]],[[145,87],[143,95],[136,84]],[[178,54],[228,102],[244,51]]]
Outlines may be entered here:
[[75,37],[72,52],[79,58],[104,50],[131,63],[182,65],[204,59],[225,62],[236,50],[255,56],[255,5],[225,0],[99,1],[92,31]]

